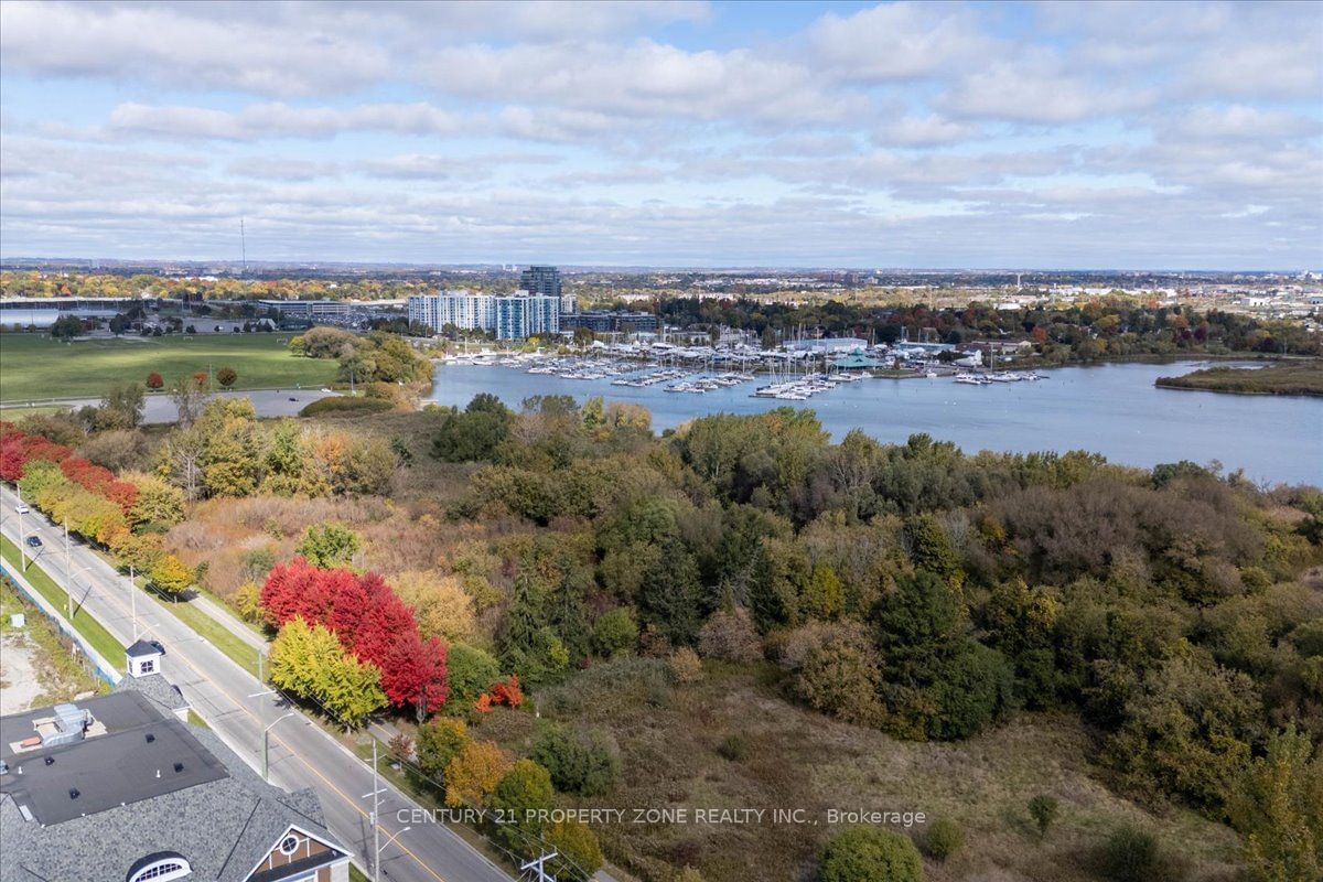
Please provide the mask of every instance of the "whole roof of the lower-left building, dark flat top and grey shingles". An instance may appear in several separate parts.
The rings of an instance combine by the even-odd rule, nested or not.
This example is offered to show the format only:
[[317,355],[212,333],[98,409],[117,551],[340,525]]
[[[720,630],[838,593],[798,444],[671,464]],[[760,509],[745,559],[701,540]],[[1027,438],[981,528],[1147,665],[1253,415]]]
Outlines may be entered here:
[[[172,718],[142,693],[111,693],[77,710],[95,721],[87,737],[49,748],[13,750],[11,742],[53,709],[0,718],[4,882],[128,879],[161,856],[183,856],[194,878],[265,881],[348,856],[312,791],[267,784],[210,731]],[[254,877],[291,828],[328,850],[308,867],[291,862]]]

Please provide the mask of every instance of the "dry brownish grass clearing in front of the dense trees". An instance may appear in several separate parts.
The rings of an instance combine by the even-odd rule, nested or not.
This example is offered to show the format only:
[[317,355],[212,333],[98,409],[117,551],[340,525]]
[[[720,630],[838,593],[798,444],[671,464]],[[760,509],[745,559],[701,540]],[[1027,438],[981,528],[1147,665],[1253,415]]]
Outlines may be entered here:
[[[673,689],[663,664],[599,665],[536,697],[542,715],[606,729],[620,744],[622,785],[606,797],[568,801],[624,809],[803,808],[818,822],[597,826],[610,860],[644,879],[669,879],[672,867],[685,863],[728,882],[807,878],[832,832],[830,808],[953,819],[966,844],[946,863],[927,861],[933,882],[1094,879],[1089,850],[1122,822],[1152,830],[1183,856],[1191,882],[1234,877],[1237,840],[1226,826],[1179,809],[1154,813],[1109,791],[1089,763],[1090,738],[1073,717],[1025,714],[964,743],[901,742],[786,702],[763,668],[709,662],[703,682]],[[527,731],[503,717],[479,722],[478,731],[527,750]],[[740,751],[728,747],[733,735]],[[1039,793],[1061,803],[1044,838],[1027,807]],[[922,829],[910,834],[919,838]]]

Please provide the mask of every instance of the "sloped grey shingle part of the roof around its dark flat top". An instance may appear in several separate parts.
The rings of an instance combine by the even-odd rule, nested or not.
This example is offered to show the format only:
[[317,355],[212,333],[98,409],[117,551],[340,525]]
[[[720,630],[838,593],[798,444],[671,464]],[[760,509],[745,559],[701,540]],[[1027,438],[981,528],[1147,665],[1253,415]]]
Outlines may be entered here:
[[[216,774],[192,785],[175,787],[160,793],[152,792],[123,805],[115,803],[103,811],[42,824],[40,819],[44,811],[33,812],[38,820],[26,820],[20,812],[19,807],[25,804],[25,795],[11,785],[11,779],[16,778],[11,771],[0,778],[0,830],[4,838],[4,848],[0,849],[0,882],[126,879],[135,863],[156,852],[175,852],[184,856],[193,869],[193,878],[239,882],[291,825],[336,849],[329,856],[332,860],[348,854],[348,850],[325,829],[320,803],[312,791],[286,793],[265,783],[210,731],[185,726],[167,717],[152,702],[134,692],[112,693],[103,698],[79,702],[79,706],[90,709],[102,722],[107,718],[111,722],[123,722],[132,717],[134,709],[149,715],[151,722],[120,730],[107,723],[110,731],[105,735],[93,735],[78,744],[49,751],[56,755],[56,763],[49,767],[42,759],[44,751],[24,752],[21,754],[25,766],[24,778],[28,776],[26,766],[33,759],[40,763],[42,771],[71,768],[74,760],[70,755],[79,748],[94,747],[98,742],[116,741],[126,748],[132,744],[136,747],[135,752],[147,756],[151,756],[149,748],[157,746],[181,746],[192,742],[188,744],[188,751],[194,762],[204,755],[209,756],[214,766],[204,767]],[[0,725],[8,731],[12,719],[5,717],[0,719]],[[157,741],[149,746],[146,742],[147,731],[157,734]],[[161,733],[168,733],[164,744]],[[119,747],[114,750],[118,751]],[[90,755],[102,752],[103,748],[95,747],[95,752]],[[9,762],[13,764],[15,760]],[[134,762],[140,767],[140,760]],[[187,771],[185,767],[184,772]],[[114,782],[122,778],[119,772],[105,774],[103,768],[85,768],[83,772],[85,776],[79,779],[78,787],[89,796],[99,793],[102,788],[114,789]],[[168,780],[169,774],[173,774],[173,766],[161,774],[163,780]],[[103,779],[108,779],[112,784],[106,784]],[[149,780],[156,780],[155,767]],[[40,782],[36,778],[29,779],[22,787],[30,799],[34,789],[40,788]],[[64,782],[60,782],[60,787],[64,787]],[[62,792],[67,799],[67,792]],[[57,801],[60,795],[54,793]],[[42,797],[37,797],[38,801]],[[79,796],[77,801],[83,803],[83,799]],[[295,865],[290,867],[290,873],[298,871]],[[283,870],[270,878],[282,875]]]

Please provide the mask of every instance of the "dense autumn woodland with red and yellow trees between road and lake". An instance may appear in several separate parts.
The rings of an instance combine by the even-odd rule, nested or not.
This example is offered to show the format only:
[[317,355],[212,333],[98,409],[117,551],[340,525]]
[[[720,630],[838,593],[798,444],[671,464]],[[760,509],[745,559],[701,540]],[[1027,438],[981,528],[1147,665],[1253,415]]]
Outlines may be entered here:
[[[1154,817],[1225,824],[1250,878],[1323,866],[1316,488],[926,435],[833,444],[794,409],[658,438],[640,409],[564,397],[324,422],[217,402],[165,432],[56,417],[7,427],[3,446],[26,499],[98,513],[82,532],[126,563],[278,632],[273,677],[294,694],[393,717],[415,784],[447,804],[626,799],[631,778],[665,775],[647,768],[650,727],[729,684],[839,726],[816,737],[876,733],[873,751],[1078,730],[1093,779]],[[426,660],[407,682],[381,674],[398,652]],[[310,665],[328,680],[300,677]],[[755,768],[745,738],[712,762]],[[1015,799],[1045,836],[1057,797]],[[597,833],[646,879],[758,878],[729,849]],[[949,819],[913,834],[926,861],[912,836],[827,833],[766,848],[786,849],[786,878],[871,878],[836,873],[889,849],[966,878],[945,863],[964,836]],[[491,836],[512,853],[520,836],[558,842],[581,858],[569,878],[602,860],[582,825]],[[1142,829],[1103,845],[1102,863],[1057,878],[1127,878],[1106,861],[1183,874]]]

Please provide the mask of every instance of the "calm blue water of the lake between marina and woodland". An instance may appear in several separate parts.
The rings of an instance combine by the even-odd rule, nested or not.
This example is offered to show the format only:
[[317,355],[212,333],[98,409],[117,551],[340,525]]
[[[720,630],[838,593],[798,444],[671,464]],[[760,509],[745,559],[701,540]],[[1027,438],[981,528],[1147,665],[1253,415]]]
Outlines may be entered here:
[[841,383],[806,402],[753,398],[746,382],[703,395],[667,393],[665,383],[635,389],[610,380],[562,380],[519,368],[441,365],[433,401],[467,405],[478,393],[512,407],[529,395],[602,395],[652,411],[656,431],[713,413],[755,414],[794,405],[818,413],[835,439],[861,428],[882,442],[914,432],[951,440],[967,452],[1088,450],[1110,461],[1152,467],[1181,459],[1269,483],[1323,485],[1323,399],[1226,395],[1159,389],[1158,377],[1188,373],[1204,362],[1117,364],[1058,368],[1039,382],[967,386],[949,377],[871,378]]

